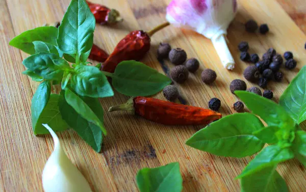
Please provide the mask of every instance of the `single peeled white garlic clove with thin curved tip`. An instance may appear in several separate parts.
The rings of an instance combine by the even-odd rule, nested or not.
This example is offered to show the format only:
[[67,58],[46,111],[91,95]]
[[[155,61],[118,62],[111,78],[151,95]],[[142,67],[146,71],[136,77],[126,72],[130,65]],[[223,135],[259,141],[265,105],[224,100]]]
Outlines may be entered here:
[[66,156],[56,133],[42,124],[51,133],[54,140],[54,151],[42,171],[42,186],[45,192],[90,192],[90,186]]

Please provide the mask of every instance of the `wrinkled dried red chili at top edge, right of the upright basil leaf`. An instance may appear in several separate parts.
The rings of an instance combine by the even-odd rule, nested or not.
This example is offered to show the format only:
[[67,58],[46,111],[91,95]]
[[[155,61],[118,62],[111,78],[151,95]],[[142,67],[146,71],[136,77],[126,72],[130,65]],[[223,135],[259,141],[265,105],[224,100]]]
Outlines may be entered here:
[[123,19],[120,17],[120,13],[115,9],[109,9],[100,4],[93,4],[88,1],[86,3],[89,6],[90,11],[94,15],[97,23],[101,25],[104,24],[114,24],[116,22],[121,22]]

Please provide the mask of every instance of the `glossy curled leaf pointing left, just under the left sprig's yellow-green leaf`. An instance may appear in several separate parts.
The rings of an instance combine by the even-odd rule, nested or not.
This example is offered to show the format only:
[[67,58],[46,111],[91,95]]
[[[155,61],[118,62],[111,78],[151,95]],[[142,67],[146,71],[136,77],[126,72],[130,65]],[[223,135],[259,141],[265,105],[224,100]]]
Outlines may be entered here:
[[[63,70],[53,63],[54,59],[61,59],[54,53],[34,54],[23,60],[23,65],[34,71],[45,80],[62,80]],[[63,59],[62,59],[63,60]]]

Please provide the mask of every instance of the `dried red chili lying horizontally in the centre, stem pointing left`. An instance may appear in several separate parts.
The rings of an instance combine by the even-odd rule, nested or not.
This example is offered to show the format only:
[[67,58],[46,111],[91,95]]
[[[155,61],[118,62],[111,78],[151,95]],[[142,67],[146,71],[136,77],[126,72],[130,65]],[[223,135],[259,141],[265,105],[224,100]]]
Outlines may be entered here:
[[207,125],[222,117],[220,113],[209,109],[140,96],[109,109],[118,110],[130,110],[145,119],[164,125]]

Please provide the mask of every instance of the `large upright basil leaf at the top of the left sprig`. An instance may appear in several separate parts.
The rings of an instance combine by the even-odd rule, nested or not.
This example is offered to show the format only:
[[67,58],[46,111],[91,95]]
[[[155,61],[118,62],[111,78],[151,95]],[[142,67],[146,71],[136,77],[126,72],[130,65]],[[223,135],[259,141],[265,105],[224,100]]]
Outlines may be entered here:
[[[84,0],[72,0],[59,27],[60,50],[85,62],[93,44],[95,18]],[[89,53],[88,53],[89,52]]]

